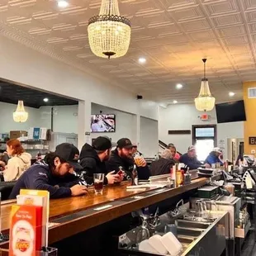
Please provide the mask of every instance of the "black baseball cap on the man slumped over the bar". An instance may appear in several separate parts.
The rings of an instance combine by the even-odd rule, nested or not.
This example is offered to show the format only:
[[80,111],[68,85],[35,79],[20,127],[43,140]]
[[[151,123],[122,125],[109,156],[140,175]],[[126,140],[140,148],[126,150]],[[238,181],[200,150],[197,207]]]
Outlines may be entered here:
[[83,167],[78,164],[79,150],[76,146],[70,143],[62,143],[56,146],[55,154],[61,159],[64,159],[75,169],[82,169]]

